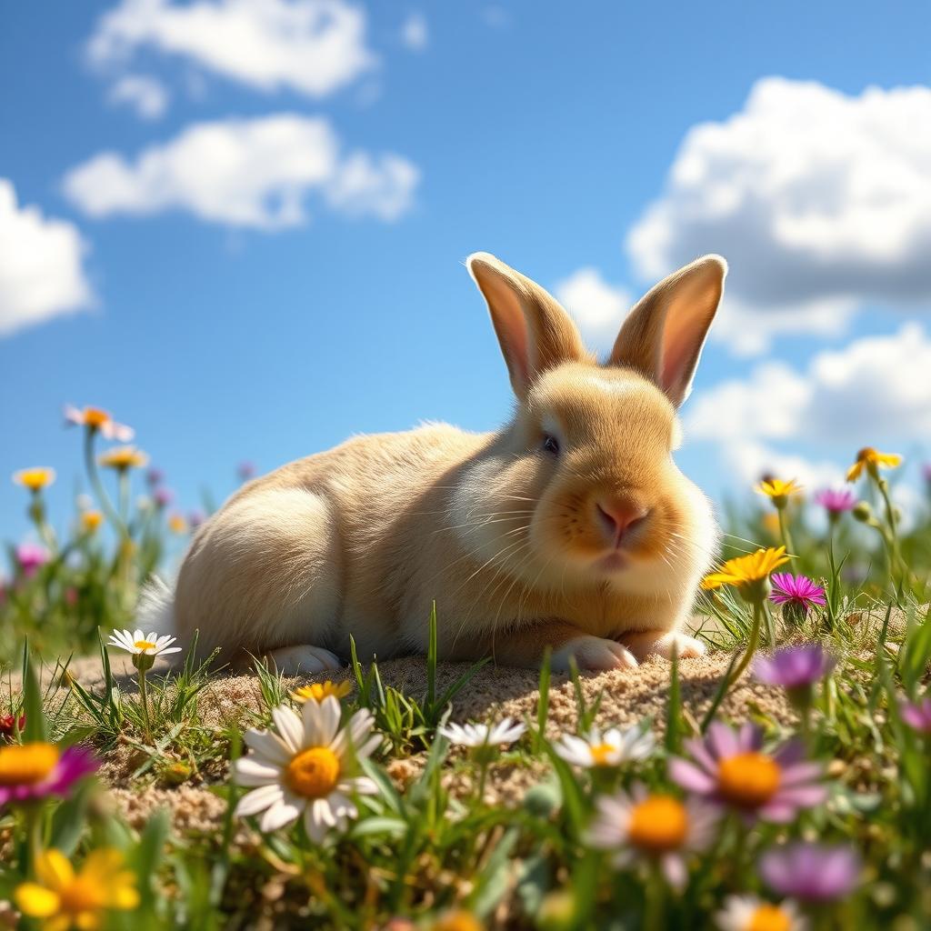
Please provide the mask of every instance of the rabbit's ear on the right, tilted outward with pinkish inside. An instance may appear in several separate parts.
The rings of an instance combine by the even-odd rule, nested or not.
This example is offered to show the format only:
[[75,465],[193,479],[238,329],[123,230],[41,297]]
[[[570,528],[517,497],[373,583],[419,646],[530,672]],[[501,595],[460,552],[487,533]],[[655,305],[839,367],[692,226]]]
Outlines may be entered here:
[[640,371],[678,407],[692,390],[726,275],[720,255],[705,255],[660,281],[627,315],[608,364]]

